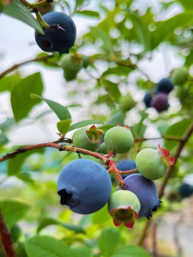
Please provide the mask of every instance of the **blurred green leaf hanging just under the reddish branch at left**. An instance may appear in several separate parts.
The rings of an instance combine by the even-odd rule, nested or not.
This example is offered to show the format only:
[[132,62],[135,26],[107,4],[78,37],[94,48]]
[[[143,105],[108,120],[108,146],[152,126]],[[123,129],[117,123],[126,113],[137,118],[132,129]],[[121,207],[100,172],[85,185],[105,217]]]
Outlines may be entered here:
[[[43,148],[38,148],[35,150],[31,150],[29,152],[24,152],[20,155],[17,155],[15,158],[8,160],[8,176],[13,176],[21,172],[22,166],[26,158],[28,158],[32,154],[43,153]],[[22,175],[19,175],[22,177]],[[24,178],[24,175],[23,175]],[[22,178],[21,178],[22,179]]]

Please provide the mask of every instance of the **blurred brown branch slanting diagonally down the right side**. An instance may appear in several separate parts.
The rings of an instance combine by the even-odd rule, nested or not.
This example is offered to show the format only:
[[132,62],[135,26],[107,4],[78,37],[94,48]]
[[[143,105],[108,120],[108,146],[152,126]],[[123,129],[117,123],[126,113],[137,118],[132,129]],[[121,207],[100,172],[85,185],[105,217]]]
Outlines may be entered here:
[[[184,148],[185,144],[188,142],[188,139],[190,138],[191,134],[193,132],[193,122],[190,124],[190,127],[188,128],[188,131],[187,133],[185,134],[185,136],[180,140],[180,144],[176,150],[176,154],[175,154],[175,162],[174,162],[174,165],[171,165],[167,168],[167,171],[166,171],[166,174],[163,178],[163,181],[161,183],[161,186],[159,188],[159,191],[158,191],[158,198],[161,199],[161,197],[163,196],[163,193],[164,193],[164,189],[165,189],[165,186],[169,180],[169,178],[171,177],[172,175],[172,171],[175,167],[175,164],[176,164],[176,161],[178,160],[181,152],[182,152],[182,149]],[[145,227],[143,229],[143,231],[141,232],[141,236],[139,237],[139,240],[138,240],[138,245],[142,246],[143,245],[143,242],[145,240],[145,237],[147,235],[147,230],[151,224],[151,218],[150,220],[147,220],[146,221],[146,224],[145,224]]]

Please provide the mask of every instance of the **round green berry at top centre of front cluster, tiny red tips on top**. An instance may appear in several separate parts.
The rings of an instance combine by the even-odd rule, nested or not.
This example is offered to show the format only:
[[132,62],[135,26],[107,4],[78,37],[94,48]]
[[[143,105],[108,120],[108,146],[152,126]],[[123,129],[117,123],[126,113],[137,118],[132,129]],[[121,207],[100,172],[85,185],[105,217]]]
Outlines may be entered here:
[[133,135],[125,127],[112,127],[105,133],[104,143],[108,149],[113,149],[116,153],[128,152],[133,146]]

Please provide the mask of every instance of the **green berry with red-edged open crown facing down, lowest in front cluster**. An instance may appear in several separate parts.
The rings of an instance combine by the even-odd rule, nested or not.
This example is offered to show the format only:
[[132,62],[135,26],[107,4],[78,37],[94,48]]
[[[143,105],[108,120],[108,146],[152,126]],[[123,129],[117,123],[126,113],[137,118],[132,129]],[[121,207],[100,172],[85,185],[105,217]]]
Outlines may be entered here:
[[128,190],[115,191],[108,201],[108,212],[115,226],[123,224],[132,228],[135,218],[138,218],[140,208],[138,197]]

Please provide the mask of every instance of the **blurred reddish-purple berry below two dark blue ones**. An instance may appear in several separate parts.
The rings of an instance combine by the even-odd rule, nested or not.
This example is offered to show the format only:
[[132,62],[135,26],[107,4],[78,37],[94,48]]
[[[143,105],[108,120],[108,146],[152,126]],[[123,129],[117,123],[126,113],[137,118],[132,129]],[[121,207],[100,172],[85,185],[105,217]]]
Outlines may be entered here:
[[158,112],[166,111],[169,107],[168,96],[165,93],[158,93],[153,96],[150,106],[154,107]]

